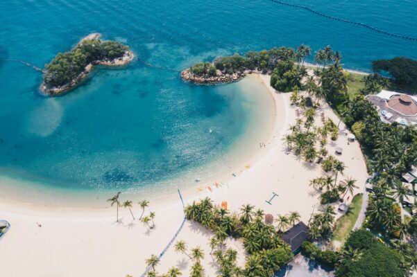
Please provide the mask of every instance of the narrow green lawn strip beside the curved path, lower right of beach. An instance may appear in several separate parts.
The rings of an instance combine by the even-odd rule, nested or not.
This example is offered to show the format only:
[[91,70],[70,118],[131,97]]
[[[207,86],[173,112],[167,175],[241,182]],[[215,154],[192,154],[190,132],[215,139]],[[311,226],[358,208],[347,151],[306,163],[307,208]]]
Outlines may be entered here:
[[345,215],[342,215],[336,222],[337,227],[332,234],[332,241],[340,242],[340,247],[345,243],[350,231],[352,231],[353,226],[355,226],[357,217],[359,217],[362,206],[362,197],[363,195],[361,193],[355,195],[349,206],[348,212]]

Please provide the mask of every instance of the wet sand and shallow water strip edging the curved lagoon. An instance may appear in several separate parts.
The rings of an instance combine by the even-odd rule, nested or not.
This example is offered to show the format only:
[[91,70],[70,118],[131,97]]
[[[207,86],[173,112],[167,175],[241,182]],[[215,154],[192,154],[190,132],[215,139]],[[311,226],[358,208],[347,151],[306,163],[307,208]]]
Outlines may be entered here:
[[[246,76],[244,84],[257,82],[257,84],[261,85],[260,89],[264,89],[262,93],[267,93],[264,95],[263,98],[269,103],[275,103],[273,91],[269,89],[269,85],[267,82],[262,78],[262,75],[259,74],[251,74]],[[242,85],[244,85],[242,84]],[[239,88],[241,91],[244,88]],[[257,96],[253,96],[257,97]],[[282,108],[283,104],[279,104],[278,107]],[[261,134],[262,141],[266,144],[270,144],[273,139],[273,132],[277,128],[276,125],[280,125],[277,123],[277,105],[271,104],[271,109],[267,114],[270,114],[272,118],[266,120],[263,125],[264,127],[264,134]],[[257,116],[258,120],[262,120],[263,116]],[[253,125],[253,123],[251,124]],[[253,126],[246,127],[249,130],[249,133],[253,133]],[[261,131],[263,131],[261,129]],[[214,159],[212,161],[208,161],[203,165],[197,166],[197,170],[189,170],[185,172],[185,174],[190,177],[191,172],[194,171],[202,171],[207,172],[207,176],[203,176],[203,179],[199,182],[192,181],[185,182],[183,181],[185,175],[177,175],[174,177],[170,177],[165,181],[162,181],[158,184],[149,184],[144,188],[127,188],[121,190],[122,195],[121,198],[130,197],[131,199],[136,200],[142,199],[141,197],[143,193],[146,194],[148,200],[151,200],[154,204],[167,204],[168,202],[176,202],[176,188],[180,188],[182,195],[186,197],[195,197],[196,195],[200,195],[202,192],[207,190],[207,186],[211,186],[214,189],[214,184],[216,182],[220,184],[224,184],[224,186],[228,186],[228,182],[232,179],[235,179],[233,174],[238,177],[239,175],[244,174],[248,170],[245,166],[250,165],[253,166],[259,159],[262,159],[264,154],[268,151],[268,149],[259,149],[256,148],[253,152],[249,154],[244,154],[244,157],[241,157],[241,150],[243,150],[242,145],[246,145],[248,143],[248,139],[246,139],[246,134],[248,132],[245,131],[244,137],[241,137],[237,142],[233,142],[232,145],[225,150],[223,156],[225,158],[221,159],[221,163],[223,166],[217,166],[218,170],[212,170],[211,168],[214,167],[213,165],[219,163],[218,159]],[[257,146],[256,146],[257,147]],[[226,161],[223,161],[226,160]],[[205,170],[207,169],[207,170]],[[212,173],[210,173],[210,171]],[[194,174],[192,174],[194,176]],[[198,173],[196,174],[198,175]],[[201,177],[201,176],[196,176]],[[189,178],[188,178],[189,179]],[[191,180],[191,179],[190,179]],[[34,184],[35,183],[35,184]],[[37,184],[36,184],[37,183]],[[172,183],[176,185],[172,185],[170,189],[168,189],[171,193],[164,192],[167,190],[164,184]],[[12,186],[8,186],[7,184],[14,184]],[[156,186],[155,186],[156,185]],[[159,185],[159,186],[158,186]],[[8,189],[8,187],[10,187]],[[87,211],[94,211],[96,213],[100,213],[100,211],[108,211],[109,205],[105,200],[111,197],[112,194],[115,193],[115,190],[105,190],[96,192],[95,190],[72,190],[71,188],[59,188],[53,186],[52,184],[43,183],[42,181],[31,181],[31,177],[27,176],[24,178],[20,178],[19,176],[14,177],[12,175],[0,175],[0,188],[4,188],[2,196],[0,196],[0,207],[1,202],[7,202],[11,206],[15,206],[15,208],[19,210],[40,210],[40,211],[48,211],[50,209],[58,210],[62,213],[73,213],[73,212],[80,212],[83,213],[85,210]],[[199,188],[203,188],[202,191],[198,191]],[[156,190],[156,192],[148,193],[149,191]],[[24,193],[22,193],[22,191]],[[32,191],[32,193],[30,193]],[[105,198],[107,197],[107,198]],[[53,199],[52,202],[49,202],[50,199]],[[45,206],[43,203],[48,203]]]

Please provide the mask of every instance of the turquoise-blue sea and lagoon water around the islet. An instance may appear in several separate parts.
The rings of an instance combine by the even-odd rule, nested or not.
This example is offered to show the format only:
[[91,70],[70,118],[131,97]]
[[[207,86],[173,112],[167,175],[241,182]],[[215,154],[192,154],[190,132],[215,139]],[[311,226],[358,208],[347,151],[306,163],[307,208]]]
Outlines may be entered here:
[[[416,1],[287,2],[417,37]],[[38,91],[42,74],[10,61],[43,68],[95,32],[169,70],[136,60],[47,98]],[[417,58],[416,41],[268,0],[0,1],[0,175],[90,191],[151,190],[181,176],[192,184],[228,166],[220,161],[233,153],[256,149],[267,96],[254,93],[262,90],[256,82],[201,87],[182,82],[178,71],[218,55],[302,43],[313,51],[330,44],[346,68],[361,71],[375,59]]]

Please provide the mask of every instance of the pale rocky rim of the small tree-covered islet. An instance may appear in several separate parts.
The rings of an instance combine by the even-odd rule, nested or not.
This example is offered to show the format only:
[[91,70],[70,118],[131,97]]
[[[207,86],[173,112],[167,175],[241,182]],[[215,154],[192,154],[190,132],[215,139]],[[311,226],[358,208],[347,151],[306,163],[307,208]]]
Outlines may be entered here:
[[[92,33],[80,39],[80,42],[83,42],[86,39],[99,39],[101,37],[100,33]],[[69,83],[64,84],[60,87],[46,87],[44,81],[40,84],[40,91],[45,96],[61,96],[65,93],[68,93],[72,89],[76,89],[76,87],[80,86],[85,82],[85,80],[90,77],[94,66],[106,66],[106,67],[123,67],[133,61],[135,58],[135,53],[128,49],[125,51],[124,55],[121,57],[114,58],[113,60],[95,60],[90,64],[85,66],[85,69],[81,71],[74,79],[72,79]]]

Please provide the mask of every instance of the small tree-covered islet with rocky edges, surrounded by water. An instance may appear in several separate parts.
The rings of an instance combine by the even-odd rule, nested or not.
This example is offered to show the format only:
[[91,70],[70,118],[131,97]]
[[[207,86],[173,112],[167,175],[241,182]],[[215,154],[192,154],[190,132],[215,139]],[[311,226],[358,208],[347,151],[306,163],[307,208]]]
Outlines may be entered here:
[[133,60],[133,52],[119,42],[100,40],[99,33],[92,33],[65,53],[45,65],[41,91],[57,96],[74,89],[85,80],[96,65],[124,66]]

